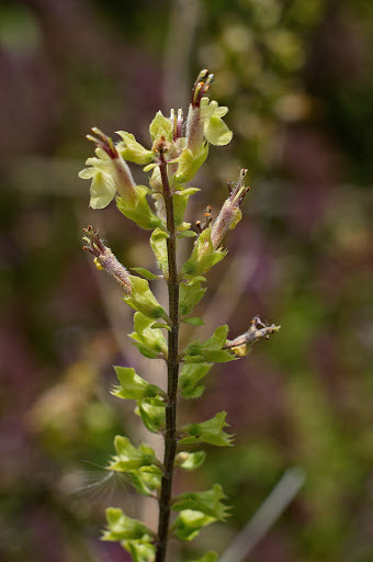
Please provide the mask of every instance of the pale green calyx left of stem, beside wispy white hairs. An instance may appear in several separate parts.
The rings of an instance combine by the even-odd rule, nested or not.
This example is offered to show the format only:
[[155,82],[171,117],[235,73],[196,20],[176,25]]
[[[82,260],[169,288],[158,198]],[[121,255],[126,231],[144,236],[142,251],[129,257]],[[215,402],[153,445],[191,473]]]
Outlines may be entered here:
[[127,437],[117,435],[114,439],[116,456],[114,456],[108,467],[115,472],[128,472],[129,470],[148,467],[157,462],[154,450],[145,443],[138,448],[132,445]]

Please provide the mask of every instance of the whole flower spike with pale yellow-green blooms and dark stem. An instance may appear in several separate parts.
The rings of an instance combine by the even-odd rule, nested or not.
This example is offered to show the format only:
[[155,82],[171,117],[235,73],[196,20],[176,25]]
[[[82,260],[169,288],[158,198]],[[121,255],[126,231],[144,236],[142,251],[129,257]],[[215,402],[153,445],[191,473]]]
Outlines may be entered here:
[[[226,250],[222,247],[225,235],[241,217],[240,203],[248,191],[246,170],[237,182],[229,183],[229,196],[213,220],[210,211],[205,224],[197,223],[195,232],[184,222],[189,199],[199,189],[187,187],[205,161],[210,144],[223,146],[233,133],[224,123],[227,108],[205,95],[213,75],[200,72],[193,90],[188,117],[182,111],[171,111],[170,117],[158,112],[150,124],[151,147],[143,147],[135,137],[123,131],[122,140],[113,140],[98,128],[95,137],[88,138],[97,145],[95,157],[89,158],[81,178],[91,179],[93,209],[103,209],[115,199],[116,206],[140,228],[150,231],[150,246],[159,272],[136,268],[129,274],[108,248],[98,232],[86,228],[86,249],[93,256],[99,269],[105,269],[120,283],[124,301],[134,308],[134,331],[131,337],[143,356],[162,359],[167,367],[167,385],[150,384],[132,368],[115,367],[118,385],[113,394],[118,398],[136,402],[135,412],[149,431],[165,438],[165,457],[157,459],[145,443],[138,447],[128,438],[117,436],[115,454],[108,469],[124,472],[139,494],[159,503],[158,529],[127,517],[122,509],[106,510],[108,528],[104,540],[120,541],[135,562],[165,562],[170,537],[190,541],[200,530],[217,520],[224,520],[228,508],[219,484],[205,492],[172,495],[174,470],[192,471],[205,460],[203,450],[190,451],[190,445],[210,443],[217,447],[233,445],[231,435],[225,431],[226,413],[219,412],[211,419],[178,426],[177,408],[181,400],[197,398],[204,391],[200,384],[213,363],[228,362],[247,355],[259,338],[268,338],[279,327],[265,326],[255,317],[249,329],[234,340],[228,340],[228,326],[218,327],[205,341],[195,339],[185,349],[179,349],[179,326],[189,323],[199,326],[201,318],[192,316],[194,306],[206,289],[205,273],[222,261]],[[145,166],[151,172],[149,186],[134,181],[128,162]],[[149,200],[152,204],[149,203]],[[189,259],[177,263],[177,245],[181,238],[193,238]],[[168,286],[168,306],[162,306],[151,292],[151,283],[163,280]],[[170,521],[171,510],[178,515]],[[208,552],[199,562],[214,562],[217,554]],[[195,561],[196,562],[196,561]]]

